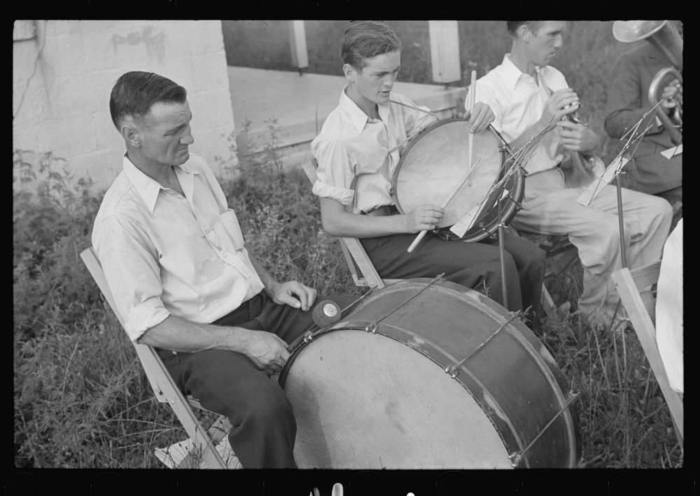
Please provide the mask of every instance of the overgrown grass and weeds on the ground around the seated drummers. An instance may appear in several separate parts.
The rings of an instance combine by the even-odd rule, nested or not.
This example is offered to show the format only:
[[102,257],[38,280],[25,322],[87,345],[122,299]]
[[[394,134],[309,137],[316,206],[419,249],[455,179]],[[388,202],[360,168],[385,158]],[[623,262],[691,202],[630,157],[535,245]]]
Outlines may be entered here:
[[[241,171],[223,187],[248,249],[278,278],[326,294],[359,294],[337,241],[320,229],[318,201],[302,172],[269,162],[242,164]],[[69,184],[39,188],[38,201],[14,197],[15,465],[162,467],[154,449],[186,434],[156,402],[78,258],[90,244],[98,202],[90,185]],[[580,277],[574,264],[552,281],[554,299],[575,303]],[[574,314],[545,319],[537,334],[580,392],[583,467],[682,466],[670,414],[633,332],[591,329]]]

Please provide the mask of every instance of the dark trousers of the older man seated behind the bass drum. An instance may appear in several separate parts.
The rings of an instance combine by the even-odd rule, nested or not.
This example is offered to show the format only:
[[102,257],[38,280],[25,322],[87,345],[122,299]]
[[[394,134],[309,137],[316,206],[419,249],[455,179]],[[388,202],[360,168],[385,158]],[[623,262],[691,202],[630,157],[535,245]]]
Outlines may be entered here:
[[[316,296],[316,302],[322,299],[332,299],[342,309],[354,300]],[[304,312],[275,304],[263,291],[213,324],[272,332],[290,343],[312,323],[311,309]],[[205,409],[228,418],[232,425],[228,439],[244,468],[296,468],[293,451],[297,426],[292,406],[267,372],[233,351],[158,353],[185,395],[192,395]]]

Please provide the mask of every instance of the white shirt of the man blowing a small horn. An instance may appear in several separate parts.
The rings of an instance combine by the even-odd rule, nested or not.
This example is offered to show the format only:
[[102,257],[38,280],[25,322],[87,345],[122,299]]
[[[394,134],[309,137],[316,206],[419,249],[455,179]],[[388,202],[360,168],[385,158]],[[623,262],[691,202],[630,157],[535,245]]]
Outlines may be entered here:
[[[476,99],[491,107],[496,116],[492,125],[508,143],[521,136],[540,120],[549,98],[544,85],[522,72],[506,54],[503,62],[476,82]],[[542,67],[540,78],[555,92],[568,87],[566,78],[552,66]],[[470,88],[471,91],[471,88]],[[469,97],[465,102],[469,101]],[[553,169],[563,159],[559,135],[550,131],[539,141],[535,153],[526,164],[528,173]]]

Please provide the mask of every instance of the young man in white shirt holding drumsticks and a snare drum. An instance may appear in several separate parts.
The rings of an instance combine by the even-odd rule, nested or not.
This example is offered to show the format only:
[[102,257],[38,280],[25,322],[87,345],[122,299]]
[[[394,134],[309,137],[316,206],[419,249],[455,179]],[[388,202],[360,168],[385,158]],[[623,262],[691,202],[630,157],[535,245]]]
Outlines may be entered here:
[[[348,84],[340,101],[311,143],[318,160],[314,193],[321,197],[323,228],[334,236],[360,239],[383,278],[434,277],[484,290],[507,308],[537,311],[544,275],[544,253],[530,241],[505,239],[505,288],[500,250],[489,243],[443,241],[428,234],[407,253],[416,234],[432,231],[444,208],[423,204],[399,213],[391,197],[391,178],[407,140],[435,122],[426,107],[417,107],[392,92],[400,68],[401,43],[381,22],[353,22],[345,32],[341,55]],[[493,120],[484,104],[475,104],[471,132]]]

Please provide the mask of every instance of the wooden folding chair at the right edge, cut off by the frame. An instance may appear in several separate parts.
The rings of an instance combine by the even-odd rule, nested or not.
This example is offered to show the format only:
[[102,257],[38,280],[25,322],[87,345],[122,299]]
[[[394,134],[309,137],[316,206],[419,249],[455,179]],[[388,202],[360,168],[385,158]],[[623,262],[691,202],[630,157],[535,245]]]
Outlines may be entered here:
[[610,277],[615,283],[629,320],[632,323],[639,342],[642,344],[647,360],[657,378],[661,392],[664,394],[668,410],[675,427],[678,442],[683,446],[683,397],[680,393],[671,389],[664,362],[661,360],[656,339],[655,316],[656,306],[652,293],[652,285],[659,279],[661,261],[630,270],[628,268],[613,272]]

